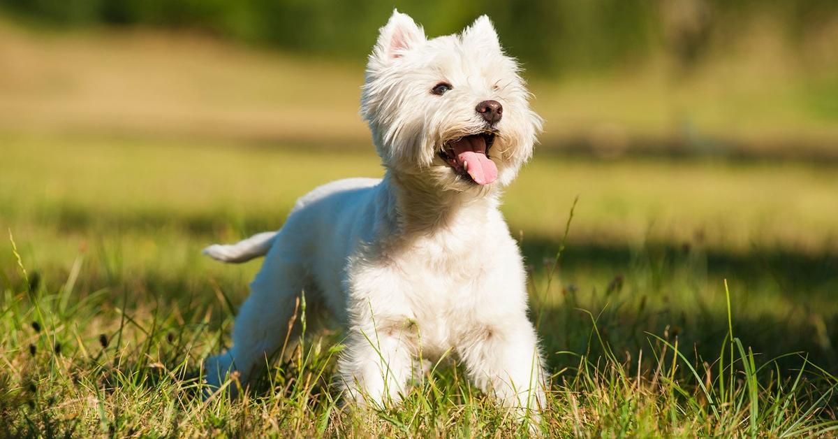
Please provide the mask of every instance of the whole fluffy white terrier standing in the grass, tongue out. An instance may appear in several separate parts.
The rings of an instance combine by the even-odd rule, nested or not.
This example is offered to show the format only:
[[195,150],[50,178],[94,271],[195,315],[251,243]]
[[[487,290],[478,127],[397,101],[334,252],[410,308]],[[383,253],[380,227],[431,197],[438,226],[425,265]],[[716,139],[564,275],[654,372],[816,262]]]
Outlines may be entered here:
[[348,400],[397,401],[421,358],[450,350],[479,389],[538,410],[546,379],[526,274],[498,210],[541,129],[518,71],[485,16],[462,34],[426,39],[394,11],[361,99],[384,179],[320,186],[279,232],[204,250],[225,262],[266,254],[233,347],[207,360],[210,386],[233,370],[245,383],[254,376],[281,347],[305,290],[344,324]]

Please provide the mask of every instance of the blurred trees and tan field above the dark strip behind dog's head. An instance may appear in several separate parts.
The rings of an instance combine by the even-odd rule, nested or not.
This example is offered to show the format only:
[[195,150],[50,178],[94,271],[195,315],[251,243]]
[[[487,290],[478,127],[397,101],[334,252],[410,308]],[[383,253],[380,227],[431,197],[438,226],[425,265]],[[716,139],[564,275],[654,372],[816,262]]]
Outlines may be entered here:
[[[3,0],[3,125],[361,144],[391,2]],[[838,158],[838,5],[402,2],[428,35],[481,13],[532,82],[546,148]],[[328,105],[326,105],[328,104]]]

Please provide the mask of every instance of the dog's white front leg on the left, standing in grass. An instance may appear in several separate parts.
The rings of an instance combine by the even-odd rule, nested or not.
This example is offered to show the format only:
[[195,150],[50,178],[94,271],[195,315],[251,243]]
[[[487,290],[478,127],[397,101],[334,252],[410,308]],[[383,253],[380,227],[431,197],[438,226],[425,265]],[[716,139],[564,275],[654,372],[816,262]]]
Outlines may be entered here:
[[401,400],[414,373],[409,334],[395,322],[351,329],[339,373],[347,400],[378,407]]

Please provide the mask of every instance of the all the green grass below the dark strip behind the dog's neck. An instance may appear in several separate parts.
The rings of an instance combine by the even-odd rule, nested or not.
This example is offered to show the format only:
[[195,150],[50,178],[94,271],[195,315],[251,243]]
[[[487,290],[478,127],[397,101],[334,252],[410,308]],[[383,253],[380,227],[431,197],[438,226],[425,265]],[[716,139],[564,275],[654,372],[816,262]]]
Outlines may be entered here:
[[[304,334],[240,400],[200,400],[200,363],[229,343],[258,263],[199,249],[279,227],[319,183],[380,175],[371,152],[9,132],[0,143],[3,434],[527,434],[456,358],[399,407],[344,410],[331,385],[338,331]],[[828,436],[836,178],[816,165],[537,155],[504,204],[553,378],[537,428]]]

